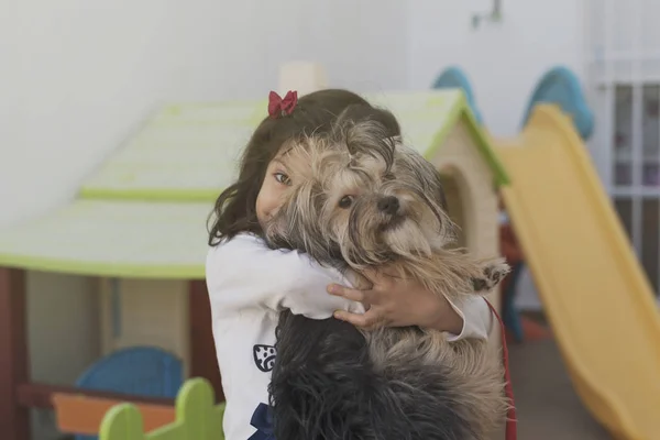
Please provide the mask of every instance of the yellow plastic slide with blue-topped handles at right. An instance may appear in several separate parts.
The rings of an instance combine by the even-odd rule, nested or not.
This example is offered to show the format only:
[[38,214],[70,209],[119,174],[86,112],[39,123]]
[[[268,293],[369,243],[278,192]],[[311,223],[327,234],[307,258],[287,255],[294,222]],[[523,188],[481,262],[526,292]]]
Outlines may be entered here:
[[518,138],[493,143],[575,389],[615,438],[660,439],[660,312],[571,120],[541,105]]

